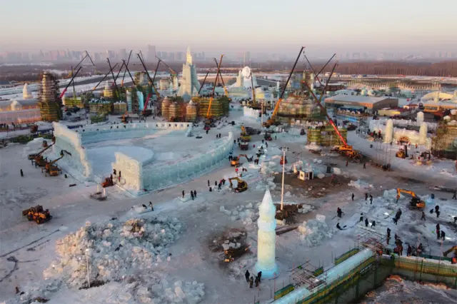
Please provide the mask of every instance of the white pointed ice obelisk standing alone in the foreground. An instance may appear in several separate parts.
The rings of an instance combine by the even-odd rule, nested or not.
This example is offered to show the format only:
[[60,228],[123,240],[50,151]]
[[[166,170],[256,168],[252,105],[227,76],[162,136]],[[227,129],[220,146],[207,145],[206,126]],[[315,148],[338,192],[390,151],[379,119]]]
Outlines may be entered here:
[[276,207],[271,200],[270,191],[265,191],[259,209],[257,263],[256,271],[262,272],[262,278],[273,278],[278,275],[276,265]]

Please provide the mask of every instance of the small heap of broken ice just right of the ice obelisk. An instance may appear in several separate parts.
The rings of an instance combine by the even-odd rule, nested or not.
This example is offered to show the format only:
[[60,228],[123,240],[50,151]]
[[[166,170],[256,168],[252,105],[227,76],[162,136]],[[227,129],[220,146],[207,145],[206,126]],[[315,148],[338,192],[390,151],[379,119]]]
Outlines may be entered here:
[[301,242],[308,247],[320,245],[324,240],[332,238],[334,233],[333,228],[328,227],[325,222],[325,216],[319,214],[315,220],[303,221],[298,226],[298,231],[301,233]]

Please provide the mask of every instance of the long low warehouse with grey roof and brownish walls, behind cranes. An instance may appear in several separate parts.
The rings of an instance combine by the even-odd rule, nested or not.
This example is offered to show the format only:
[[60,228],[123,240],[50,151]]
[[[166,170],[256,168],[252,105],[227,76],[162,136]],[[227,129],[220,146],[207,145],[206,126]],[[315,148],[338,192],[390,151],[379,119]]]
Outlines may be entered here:
[[326,108],[338,109],[344,106],[363,107],[366,113],[376,113],[381,108],[398,107],[398,98],[388,96],[373,97],[373,96],[353,96],[338,94],[326,98]]

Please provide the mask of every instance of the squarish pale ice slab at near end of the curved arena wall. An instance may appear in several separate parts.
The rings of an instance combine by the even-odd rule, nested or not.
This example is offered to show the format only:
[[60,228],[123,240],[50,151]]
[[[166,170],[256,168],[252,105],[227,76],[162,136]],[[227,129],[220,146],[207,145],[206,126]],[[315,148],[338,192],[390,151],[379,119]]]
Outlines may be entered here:
[[143,189],[143,164],[123,153],[118,152],[115,155],[116,161],[112,163],[112,166],[118,174],[121,172],[119,185],[129,190],[141,191]]

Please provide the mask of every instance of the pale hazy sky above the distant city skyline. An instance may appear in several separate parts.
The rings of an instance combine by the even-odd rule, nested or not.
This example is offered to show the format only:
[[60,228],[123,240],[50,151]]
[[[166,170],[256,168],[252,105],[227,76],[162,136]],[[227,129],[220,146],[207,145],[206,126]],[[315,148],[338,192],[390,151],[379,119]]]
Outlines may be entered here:
[[0,0],[0,51],[457,51],[457,0]]

